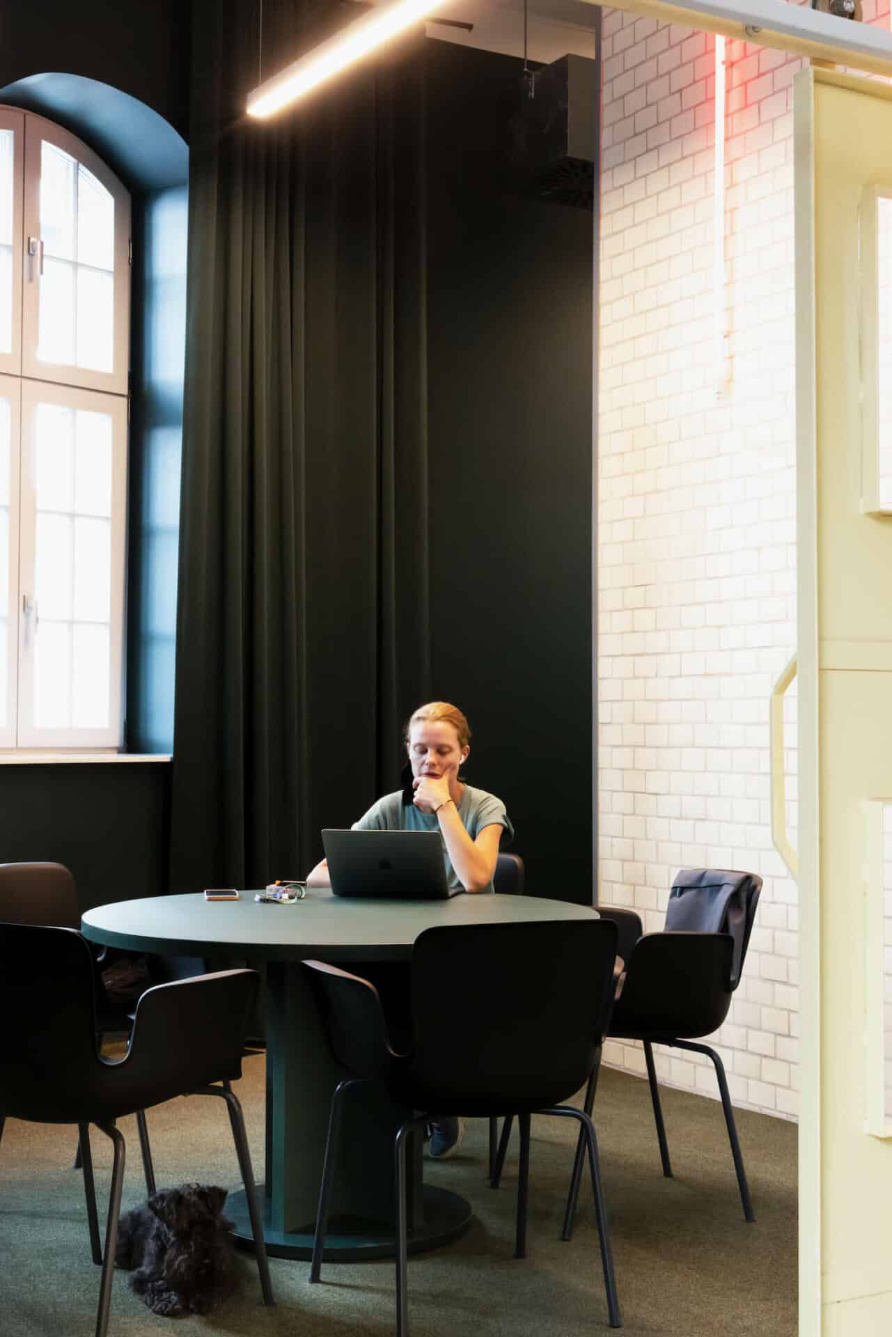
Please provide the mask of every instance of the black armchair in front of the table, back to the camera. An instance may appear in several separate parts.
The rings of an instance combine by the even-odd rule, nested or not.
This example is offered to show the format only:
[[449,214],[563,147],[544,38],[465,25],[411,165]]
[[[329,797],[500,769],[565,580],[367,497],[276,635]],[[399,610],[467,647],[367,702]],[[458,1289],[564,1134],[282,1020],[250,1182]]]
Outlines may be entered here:
[[[587,931],[587,932],[584,932]],[[592,932],[594,931],[594,932]],[[607,931],[607,932],[606,932]],[[574,941],[574,935],[579,935],[579,940]],[[543,945],[543,940],[548,939]],[[317,995],[320,997],[320,1008],[322,1013],[322,1020],[329,1035],[329,1044],[334,1056],[341,1062],[348,1071],[354,1075],[346,1078],[341,1082],[332,1099],[332,1108],[329,1115],[329,1130],[328,1139],[325,1144],[325,1159],[322,1167],[322,1182],[320,1186],[320,1205],[316,1222],[316,1238],[313,1245],[313,1259],[310,1263],[310,1282],[318,1282],[321,1278],[321,1265],[322,1265],[322,1251],[325,1246],[325,1235],[328,1229],[328,1219],[332,1205],[332,1189],[336,1175],[336,1161],[337,1148],[340,1142],[340,1128],[341,1128],[341,1111],[342,1103],[346,1092],[357,1086],[357,1083],[366,1082],[384,1082],[391,1094],[408,1108],[412,1108],[415,1114],[405,1119],[395,1138],[395,1167],[393,1167],[393,1194],[395,1194],[395,1219],[396,1219],[396,1294],[397,1294],[397,1337],[407,1337],[408,1333],[408,1301],[407,1301],[407,1262],[408,1262],[408,1239],[407,1239],[407,1140],[412,1132],[420,1132],[424,1128],[425,1122],[428,1122],[432,1115],[449,1114],[452,1110],[464,1110],[468,1114],[485,1114],[492,1115],[493,1107],[499,1110],[499,1114],[506,1114],[507,1110],[512,1108],[518,1112],[518,1119],[520,1124],[520,1173],[518,1181],[518,1217],[515,1227],[515,1257],[524,1258],[527,1253],[527,1205],[528,1205],[528,1179],[530,1179],[530,1120],[531,1115],[544,1114],[555,1115],[559,1118],[570,1118],[580,1124],[580,1142],[583,1144],[583,1155],[587,1152],[591,1174],[591,1186],[595,1206],[595,1219],[598,1223],[598,1237],[600,1247],[600,1262],[604,1275],[604,1289],[607,1296],[607,1309],[610,1316],[610,1324],[612,1328],[622,1326],[622,1318],[619,1312],[619,1300],[617,1294],[617,1281],[612,1263],[612,1251],[610,1243],[610,1226],[607,1207],[604,1202],[603,1185],[600,1179],[600,1165],[598,1158],[598,1140],[591,1118],[587,1111],[576,1110],[571,1106],[564,1104],[548,1104],[544,1107],[536,1106],[530,1108],[527,1100],[524,1100],[523,1091],[524,1083],[526,1090],[535,1088],[535,1059],[534,1075],[530,1076],[528,1072],[518,1074],[518,1064],[515,1056],[506,1054],[501,1055],[503,1046],[496,1047],[496,1054],[499,1055],[496,1062],[504,1062],[507,1068],[511,1068],[512,1078],[515,1079],[515,1091],[506,1092],[504,1096],[499,1096],[495,1086],[487,1088],[485,1084],[485,1071],[476,1070],[469,1079],[469,1086],[459,1087],[457,1072],[459,1062],[461,1056],[460,1042],[455,1042],[452,1047],[451,1056],[445,1060],[445,1067],[453,1075],[453,1082],[449,1082],[448,1076],[443,1078],[443,1087],[437,1087],[437,1040],[428,1035],[429,1016],[423,1009],[424,1003],[424,989],[428,988],[431,992],[436,993],[437,989],[437,965],[436,953],[443,953],[443,960],[449,963],[449,969],[459,969],[463,979],[480,980],[480,976],[485,972],[472,968],[467,968],[468,956],[467,952],[472,944],[477,948],[479,956],[477,961],[487,960],[487,953],[484,947],[488,948],[492,944],[492,951],[489,951],[488,960],[491,963],[491,979],[487,979],[479,988],[480,992],[491,989],[491,997],[483,999],[475,995],[473,1000],[468,1003],[469,1009],[475,1012],[477,1019],[480,1017],[497,1017],[500,1015],[501,1020],[510,1019],[511,1021],[520,1013],[519,999],[520,988],[528,989],[528,975],[524,973],[526,957],[520,948],[520,944],[526,945],[526,956],[530,953],[538,956],[546,952],[551,952],[548,971],[544,973],[551,975],[551,967],[555,967],[562,959],[562,953],[556,944],[563,943],[566,948],[570,948],[579,956],[579,961],[568,961],[568,972],[571,973],[572,965],[578,964],[582,967],[586,960],[586,953],[594,957],[594,951],[596,949],[600,956],[603,956],[604,968],[603,972],[606,979],[602,981],[603,991],[602,997],[598,997],[598,980],[594,980],[594,995],[595,999],[590,997],[586,1003],[578,1001],[576,1011],[564,1012],[560,1003],[552,1007],[551,1011],[544,1009],[543,1015],[536,1017],[536,1023],[540,1029],[538,1034],[539,1042],[542,1042],[543,1029],[547,1028],[548,1034],[554,1034],[554,1028],[560,1028],[564,1021],[567,1023],[567,1031],[574,1031],[570,1036],[568,1044],[572,1048],[582,1043],[586,1059],[583,1060],[583,1072],[590,1071],[592,1062],[592,1050],[595,1047],[595,1035],[600,1025],[606,1021],[606,1013],[610,1005],[610,995],[612,992],[612,964],[615,957],[615,928],[607,923],[567,923],[556,921],[548,924],[512,924],[512,925],[480,925],[472,928],[435,928],[428,929],[421,933],[415,944],[413,953],[413,971],[412,971],[412,992],[413,992],[413,1051],[409,1055],[400,1055],[393,1051],[389,1044],[386,1034],[386,1023],[384,1013],[381,1011],[380,1000],[374,988],[358,976],[349,975],[332,965],[325,965],[320,961],[306,961],[305,967],[309,969],[310,976],[314,981]],[[464,939],[464,943],[463,943]],[[598,943],[598,939],[603,939]],[[499,943],[501,951],[496,951],[495,947]],[[465,955],[463,956],[463,948]],[[417,963],[417,969],[416,969]],[[460,965],[457,965],[460,963]],[[591,960],[590,960],[591,967]],[[512,977],[514,972],[514,977]],[[596,975],[595,969],[595,975]],[[523,975],[523,985],[519,984],[519,977]],[[514,992],[512,992],[514,984]],[[587,987],[592,985],[591,973],[587,980],[584,980]],[[587,1005],[590,1017],[586,1015],[583,1008]],[[499,1011],[500,1009],[500,1011]],[[441,1009],[440,1009],[441,1011]],[[528,1012],[528,996],[527,996],[527,1017]],[[575,1025],[572,1024],[575,1023]],[[526,1023],[530,1027],[530,1021]],[[590,1027],[590,1029],[588,1029]],[[457,1032],[461,1031],[461,1024],[456,1027]],[[440,1032],[441,1035],[441,1032]],[[524,1036],[524,1021],[523,1019],[518,1021],[518,1035]],[[519,1042],[523,1043],[523,1042]],[[468,1043],[465,1042],[465,1048]],[[556,1047],[559,1048],[559,1047]],[[579,1052],[579,1050],[574,1050]],[[469,1060],[468,1060],[469,1062]],[[562,1060],[563,1062],[563,1060]],[[571,1060],[571,1067],[572,1067]],[[555,1090],[556,1095],[562,1095],[566,1090],[570,1092],[574,1086],[574,1078],[571,1076],[570,1084],[567,1086],[566,1074],[571,1071],[571,1067],[566,1066],[562,1068],[563,1086],[560,1090]],[[548,1080],[547,1078],[543,1080]],[[554,1078],[551,1079],[554,1082]],[[560,1079],[559,1079],[560,1080]],[[497,1083],[497,1078],[495,1079]],[[548,1087],[554,1090],[554,1087]],[[526,1108],[524,1108],[526,1104]],[[508,1128],[508,1120],[506,1120],[506,1128]],[[507,1135],[503,1134],[503,1142],[507,1143]]]

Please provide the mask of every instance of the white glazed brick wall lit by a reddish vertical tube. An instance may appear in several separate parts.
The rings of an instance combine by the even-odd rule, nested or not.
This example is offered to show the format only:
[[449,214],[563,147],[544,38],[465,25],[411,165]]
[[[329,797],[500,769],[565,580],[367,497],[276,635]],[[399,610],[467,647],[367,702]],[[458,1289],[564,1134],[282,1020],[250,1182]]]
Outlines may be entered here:
[[[888,0],[865,20],[888,27]],[[726,44],[726,382],[715,358],[714,40],[604,9],[599,366],[600,897],[662,928],[682,866],[764,878],[715,1044],[794,1118],[797,890],[770,838],[769,694],[796,647],[792,82]],[[796,694],[786,707],[794,742]],[[788,746],[794,840],[796,754]],[[891,1004],[892,1007],[892,1004]],[[604,1059],[645,1071],[639,1047]],[[658,1055],[717,1095],[711,1064]]]

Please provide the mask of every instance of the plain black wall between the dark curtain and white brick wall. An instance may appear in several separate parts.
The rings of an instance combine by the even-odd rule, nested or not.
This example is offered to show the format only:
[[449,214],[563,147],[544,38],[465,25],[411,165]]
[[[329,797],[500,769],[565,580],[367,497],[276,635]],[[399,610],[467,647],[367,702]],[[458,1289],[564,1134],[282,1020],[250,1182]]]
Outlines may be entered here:
[[592,214],[528,198],[522,64],[429,43],[435,694],[527,890],[592,898]]

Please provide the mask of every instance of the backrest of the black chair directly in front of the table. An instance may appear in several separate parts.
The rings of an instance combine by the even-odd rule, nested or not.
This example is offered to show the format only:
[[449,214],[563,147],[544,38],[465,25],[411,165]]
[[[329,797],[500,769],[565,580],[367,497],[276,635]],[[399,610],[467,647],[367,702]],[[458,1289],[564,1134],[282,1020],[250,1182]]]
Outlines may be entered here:
[[[412,1083],[427,1108],[558,1104],[586,1082],[612,1005],[607,920],[448,925],[412,952]],[[440,1102],[440,1104],[437,1103]]]

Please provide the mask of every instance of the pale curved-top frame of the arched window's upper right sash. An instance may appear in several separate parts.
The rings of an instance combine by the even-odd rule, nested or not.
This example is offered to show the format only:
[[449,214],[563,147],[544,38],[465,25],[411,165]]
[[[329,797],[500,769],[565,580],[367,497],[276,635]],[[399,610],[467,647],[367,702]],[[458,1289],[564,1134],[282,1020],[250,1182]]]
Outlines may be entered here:
[[[83,389],[127,394],[130,380],[130,194],[104,162],[75,135],[43,116],[25,116],[24,166],[24,283],[21,306],[21,374],[39,381],[79,385]],[[115,202],[115,333],[111,372],[37,360],[40,318],[40,158],[43,140],[76,158],[106,187]],[[35,254],[29,253],[33,249]]]

